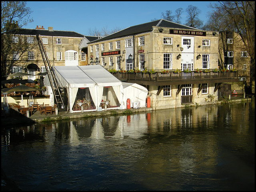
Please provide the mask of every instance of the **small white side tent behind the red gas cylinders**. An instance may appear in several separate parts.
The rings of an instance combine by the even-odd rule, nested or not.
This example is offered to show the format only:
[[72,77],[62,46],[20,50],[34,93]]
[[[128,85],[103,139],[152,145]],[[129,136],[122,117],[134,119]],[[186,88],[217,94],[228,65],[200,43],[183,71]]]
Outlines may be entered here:
[[122,85],[124,88],[123,105],[125,108],[128,98],[131,100],[131,107],[133,107],[133,102],[140,102],[140,107],[146,107],[147,88],[136,83],[122,82]]

